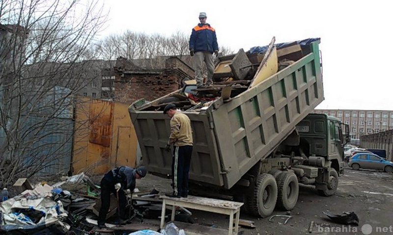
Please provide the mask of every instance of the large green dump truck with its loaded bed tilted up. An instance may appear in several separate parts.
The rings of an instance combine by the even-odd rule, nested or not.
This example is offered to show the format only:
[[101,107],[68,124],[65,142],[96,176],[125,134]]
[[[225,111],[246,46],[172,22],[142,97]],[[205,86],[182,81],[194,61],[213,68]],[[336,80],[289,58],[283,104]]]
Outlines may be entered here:
[[[244,210],[260,217],[275,208],[293,209],[299,184],[333,195],[343,172],[349,129],[337,118],[312,114],[324,100],[319,43],[320,39],[292,43],[278,50],[272,40],[255,69],[250,63],[253,54],[244,51],[222,61],[222,68],[229,71],[217,71],[217,65],[215,73],[229,78],[224,83],[215,80],[217,93],[215,87],[200,92],[187,88],[194,93],[185,96],[183,88],[151,102],[132,103],[130,118],[148,171],[164,177],[171,174],[172,155],[165,150],[170,119],[163,108],[167,101],[176,100],[193,128],[191,191],[243,201]],[[301,49],[301,56],[278,71],[280,55],[290,52],[293,57],[299,52],[288,48],[293,46]],[[248,72],[239,72],[244,68]],[[190,98],[209,92],[205,90],[211,92],[205,99]]]

